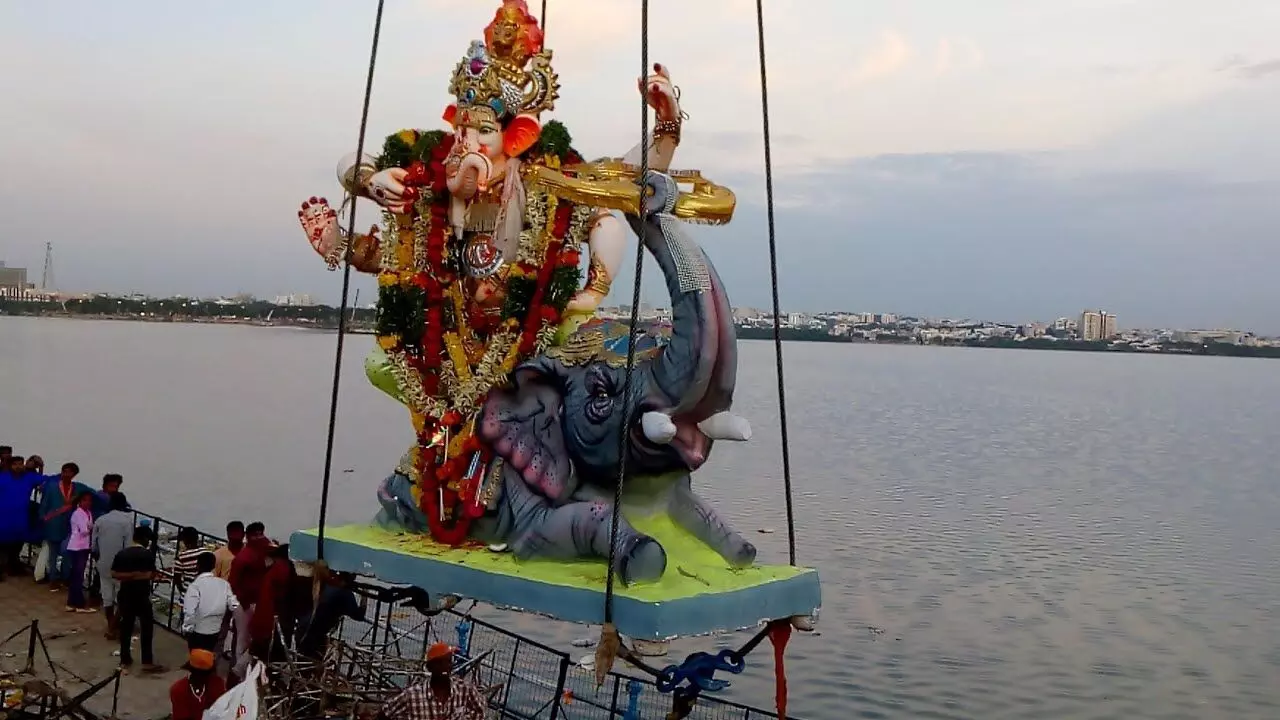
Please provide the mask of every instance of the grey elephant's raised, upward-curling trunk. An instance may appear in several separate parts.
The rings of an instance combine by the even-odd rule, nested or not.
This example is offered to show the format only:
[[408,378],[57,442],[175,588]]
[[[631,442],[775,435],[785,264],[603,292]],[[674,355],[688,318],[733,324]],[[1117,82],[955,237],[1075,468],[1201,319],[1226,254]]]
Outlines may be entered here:
[[645,366],[649,387],[657,391],[646,398],[646,410],[671,416],[675,432],[669,442],[690,469],[696,469],[710,448],[698,424],[727,410],[732,401],[737,374],[733,316],[710,260],[669,215],[678,193],[675,181],[652,174],[648,184],[653,192],[649,214],[643,222],[628,219],[667,281],[672,338]]

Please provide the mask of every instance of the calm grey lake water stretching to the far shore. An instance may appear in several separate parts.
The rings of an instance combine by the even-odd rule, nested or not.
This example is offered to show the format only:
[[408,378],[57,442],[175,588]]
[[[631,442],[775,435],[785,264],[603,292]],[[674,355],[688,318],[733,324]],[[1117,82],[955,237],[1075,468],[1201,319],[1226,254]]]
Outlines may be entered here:
[[[178,521],[315,524],[334,336],[0,318],[0,442],[123,473]],[[364,379],[370,342],[347,346],[338,523],[372,515],[411,441]],[[788,648],[794,715],[1280,716],[1280,361],[785,350],[799,555],[824,594]],[[741,343],[739,378],[755,437],[696,482],[785,561],[769,343]],[[771,676],[764,646],[728,696],[771,706]]]

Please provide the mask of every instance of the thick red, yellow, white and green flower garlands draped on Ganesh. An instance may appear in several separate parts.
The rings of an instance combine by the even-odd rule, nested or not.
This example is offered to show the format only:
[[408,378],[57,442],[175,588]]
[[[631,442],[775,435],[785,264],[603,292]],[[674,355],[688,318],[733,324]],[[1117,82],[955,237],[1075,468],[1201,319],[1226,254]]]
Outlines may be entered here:
[[[378,159],[379,169],[407,170],[412,209],[384,214],[376,333],[417,433],[419,506],[434,539],[460,546],[500,483],[499,464],[485,477],[493,451],[475,434],[476,416],[489,391],[556,337],[581,283],[577,247],[591,209],[530,188],[500,311],[470,306],[461,242],[451,242],[444,160],[452,146],[445,132],[407,129],[388,137]],[[554,120],[522,160],[550,168],[581,163],[568,132]]]

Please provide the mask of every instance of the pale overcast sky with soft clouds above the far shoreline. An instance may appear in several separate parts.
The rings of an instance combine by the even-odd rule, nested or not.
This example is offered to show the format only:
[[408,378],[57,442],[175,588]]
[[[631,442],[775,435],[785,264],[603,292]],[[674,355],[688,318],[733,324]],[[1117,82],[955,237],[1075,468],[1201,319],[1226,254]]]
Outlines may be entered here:
[[[585,155],[625,152],[639,0],[548,4],[554,117]],[[765,306],[754,5],[652,0],[649,49],[690,114],[677,165],[739,193],[735,222],[696,236],[733,302]],[[495,6],[388,0],[374,147],[439,127]],[[296,209],[339,195],[374,8],[0,4],[0,259],[38,279],[52,241],[61,290],[335,300]],[[785,307],[1020,322],[1101,306],[1129,327],[1280,332],[1276,0],[765,10]]]

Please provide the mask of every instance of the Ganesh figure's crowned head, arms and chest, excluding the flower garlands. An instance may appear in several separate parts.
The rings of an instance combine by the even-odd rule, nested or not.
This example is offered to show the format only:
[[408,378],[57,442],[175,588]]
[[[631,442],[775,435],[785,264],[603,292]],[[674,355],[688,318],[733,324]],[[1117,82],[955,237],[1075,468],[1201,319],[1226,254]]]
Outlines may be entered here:
[[[449,83],[454,102],[445,108],[443,118],[449,137],[402,131],[388,138],[389,147],[384,149],[403,149],[403,143],[412,152],[424,143],[434,145],[434,156],[439,160],[434,169],[443,168],[440,187],[424,188],[422,173],[433,169],[426,156],[420,159],[421,165],[399,167],[392,164],[392,152],[384,151],[380,158],[352,154],[338,165],[343,188],[353,197],[380,205],[394,220],[388,224],[397,224],[401,231],[411,227],[424,192],[431,199],[448,197],[449,243],[460,249],[461,269],[466,275],[465,302],[481,311],[495,311],[504,299],[504,281],[513,264],[522,256],[532,259],[539,250],[536,242],[529,247],[521,245],[521,234],[534,219],[530,206],[543,202],[530,195],[548,191],[530,187],[531,173],[549,165],[558,169],[570,160],[581,163],[567,146],[563,126],[557,123],[558,137],[543,137],[540,117],[554,109],[559,96],[550,60],[552,51],[543,49],[541,29],[526,1],[504,0],[485,28],[484,41],[474,41],[454,69]],[[666,170],[680,145],[684,114],[678,94],[660,64],[654,65],[654,73],[643,79],[640,87],[655,110],[648,165]],[[556,147],[557,141],[563,146]],[[543,152],[544,147],[553,151]],[[637,165],[640,151],[640,147],[634,149],[623,163]],[[585,206],[575,208],[573,214],[585,218],[585,223],[576,223],[573,229],[585,233],[570,240],[575,241],[571,245],[588,246],[590,264],[585,287],[566,306],[570,316],[589,315],[599,306],[627,246],[623,223],[608,208],[591,206],[591,199],[584,200],[581,205]],[[298,217],[312,246],[330,266],[337,266],[349,245],[353,268],[366,273],[385,269],[383,255],[389,249],[376,229],[348,243],[342,237],[337,213],[328,202],[315,199],[303,204]]]

